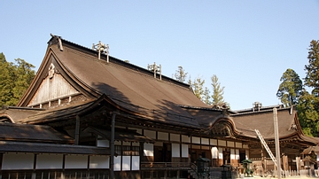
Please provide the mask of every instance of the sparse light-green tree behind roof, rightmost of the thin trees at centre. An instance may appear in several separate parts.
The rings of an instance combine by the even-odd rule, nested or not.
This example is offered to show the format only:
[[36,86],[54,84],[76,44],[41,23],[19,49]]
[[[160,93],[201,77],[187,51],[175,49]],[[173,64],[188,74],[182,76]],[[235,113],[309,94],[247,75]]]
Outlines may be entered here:
[[216,74],[214,74],[211,77],[212,80],[212,88],[213,88],[213,94],[212,94],[212,99],[213,105],[221,105],[224,104],[224,100],[223,100],[223,90],[225,87],[221,87],[221,82],[218,82],[218,77],[216,76]]

